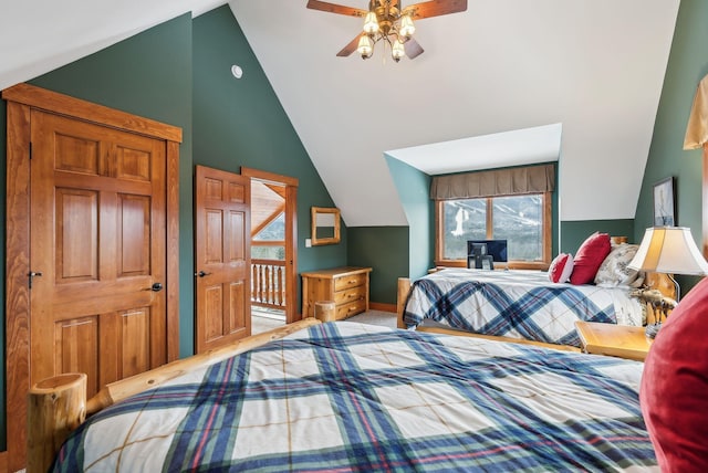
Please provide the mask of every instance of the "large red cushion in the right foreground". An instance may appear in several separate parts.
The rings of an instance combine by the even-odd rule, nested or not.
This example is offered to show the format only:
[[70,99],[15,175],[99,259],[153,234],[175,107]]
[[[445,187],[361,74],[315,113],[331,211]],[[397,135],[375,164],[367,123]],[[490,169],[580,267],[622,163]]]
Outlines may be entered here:
[[644,364],[639,400],[662,472],[708,472],[708,278],[676,306]]

